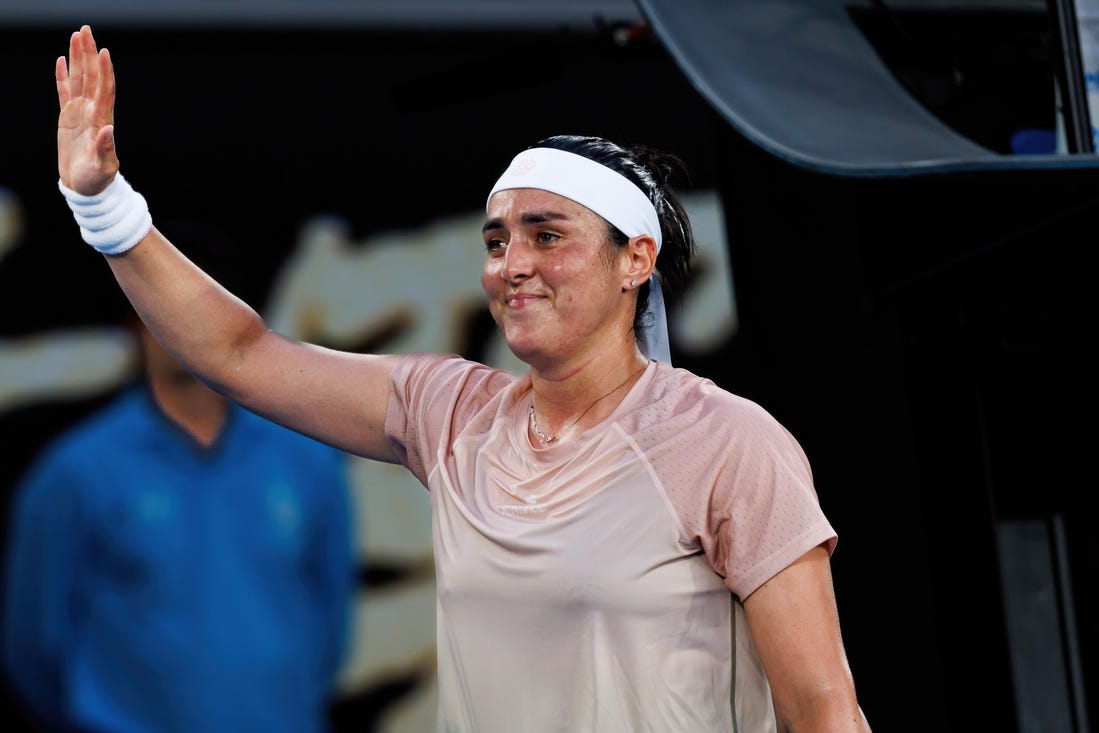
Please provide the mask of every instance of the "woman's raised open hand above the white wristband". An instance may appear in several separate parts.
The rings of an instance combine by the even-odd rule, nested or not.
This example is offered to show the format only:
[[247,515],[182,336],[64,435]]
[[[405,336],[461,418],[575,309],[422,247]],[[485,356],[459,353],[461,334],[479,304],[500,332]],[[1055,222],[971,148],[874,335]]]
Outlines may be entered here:
[[114,66],[103,48],[96,51],[91,29],[69,38],[69,60],[57,59],[57,173],[77,193],[99,193],[114,180]]

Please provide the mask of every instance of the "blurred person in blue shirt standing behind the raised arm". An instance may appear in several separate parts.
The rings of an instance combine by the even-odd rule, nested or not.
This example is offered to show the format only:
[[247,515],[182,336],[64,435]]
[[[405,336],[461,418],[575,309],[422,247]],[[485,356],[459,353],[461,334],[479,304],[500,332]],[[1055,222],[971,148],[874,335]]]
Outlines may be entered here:
[[143,378],[13,495],[9,681],[51,731],[325,731],[355,590],[346,455],[134,329]]

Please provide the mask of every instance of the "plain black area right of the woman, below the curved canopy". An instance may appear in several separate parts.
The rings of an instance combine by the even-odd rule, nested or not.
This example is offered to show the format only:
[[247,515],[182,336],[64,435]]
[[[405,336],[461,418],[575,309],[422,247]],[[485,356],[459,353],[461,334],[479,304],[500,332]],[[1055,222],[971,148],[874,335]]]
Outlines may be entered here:
[[743,323],[733,381],[813,459],[872,723],[1020,730],[1009,662],[1028,651],[1004,628],[1004,520],[1047,525],[1051,547],[1064,522],[1052,582],[1078,645],[1061,652],[1081,660],[1077,701],[1095,710],[1099,174],[831,177],[723,141],[740,162],[721,184]]

